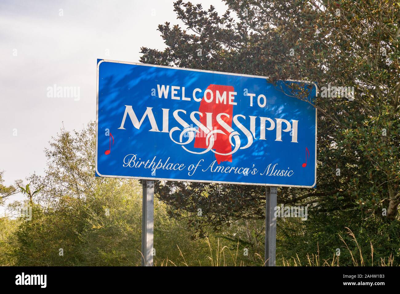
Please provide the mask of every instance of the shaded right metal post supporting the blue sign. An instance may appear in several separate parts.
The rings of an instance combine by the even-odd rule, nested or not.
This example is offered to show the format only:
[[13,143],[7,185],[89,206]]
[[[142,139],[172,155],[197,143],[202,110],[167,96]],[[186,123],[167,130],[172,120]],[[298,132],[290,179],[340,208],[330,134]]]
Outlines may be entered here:
[[266,190],[265,201],[265,266],[275,266],[276,258],[276,187],[269,187]]

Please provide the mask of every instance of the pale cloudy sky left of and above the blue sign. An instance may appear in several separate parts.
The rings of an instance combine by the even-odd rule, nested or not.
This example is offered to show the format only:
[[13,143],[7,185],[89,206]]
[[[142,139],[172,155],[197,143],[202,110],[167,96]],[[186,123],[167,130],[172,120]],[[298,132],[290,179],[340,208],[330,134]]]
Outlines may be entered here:
[[[224,2],[211,4],[223,14]],[[176,19],[172,0],[0,2],[0,170],[11,185],[46,167],[44,149],[63,126],[96,119],[97,58],[139,62],[140,47],[163,50],[158,24]],[[48,87],[79,87],[78,98]],[[25,181],[26,183],[26,181]],[[15,195],[7,203],[21,200]],[[0,207],[0,216],[4,207]]]

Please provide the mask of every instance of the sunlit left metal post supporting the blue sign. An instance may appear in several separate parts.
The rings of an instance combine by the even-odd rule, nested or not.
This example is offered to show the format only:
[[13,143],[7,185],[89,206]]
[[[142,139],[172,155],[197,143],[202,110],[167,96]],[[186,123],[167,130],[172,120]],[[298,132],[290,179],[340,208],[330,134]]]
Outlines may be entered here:
[[142,266],[153,266],[154,181],[143,180]]

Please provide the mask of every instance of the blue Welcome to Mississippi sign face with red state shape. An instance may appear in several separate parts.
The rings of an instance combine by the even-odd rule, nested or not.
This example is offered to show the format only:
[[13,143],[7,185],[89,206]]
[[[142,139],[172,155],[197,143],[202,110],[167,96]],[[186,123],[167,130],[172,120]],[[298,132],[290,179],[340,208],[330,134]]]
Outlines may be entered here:
[[97,65],[96,175],[314,187],[316,109],[266,77]]

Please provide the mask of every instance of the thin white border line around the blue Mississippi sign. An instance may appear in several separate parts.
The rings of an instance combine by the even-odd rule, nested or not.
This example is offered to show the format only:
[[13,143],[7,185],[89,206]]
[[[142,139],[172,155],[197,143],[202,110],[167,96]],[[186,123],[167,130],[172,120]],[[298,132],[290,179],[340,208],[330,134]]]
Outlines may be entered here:
[[[114,176],[114,175],[102,175],[101,173],[98,172],[97,170],[97,148],[98,148],[98,114],[99,114],[99,68],[100,64],[102,62],[113,62],[113,63],[121,63],[121,64],[134,64],[137,66],[152,66],[152,67],[157,67],[157,68],[172,68],[174,70],[190,70],[193,72],[209,72],[212,74],[225,74],[225,75],[239,75],[242,77],[259,77],[259,78],[264,78],[268,79],[268,77],[264,77],[261,75],[245,75],[245,74],[232,74],[228,72],[215,72],[212,70],[196,70],[192,68],[178,68],[178,67],[173,67],[173,66],[158,66],[154,64],[143,64],[143,63],[137,63],[137,62],[124,62],[124,61],[116,61],[116,60],[107,60],[107,59],[102,59],[97,63],[97,90],[96,90],[96,159],[95,159],[95,164],[96,164],[96,173],[100,177],[105,177],[105,178],[121,178],[121,179],[146,179],[146,180],[160,180],[160,181],[182,181],[182,182],[197,182],[197,183],[218,183],[218,184],[235,184],[235,185],[257,185],[257,186],[274,186],[274,187],[298,187],[298,188],[313,188],[316,183],[317,183],[317,109],[315,109],[315,173],[314,173],[314,184],[311,186],[300,186],[300,185],[277,185],[277,184],[263,184],[263,183],[240,183],[240,182],[224,182],[224,181],[203,181],[203,180],[188,180],[188,179],[164,179],[164,178],[156,178],[156,177],[128,177],[128,176]],[[288,79],[287,81],[298,81],[298,82],[304,82],[308,84],[314,84],[315,89],[316,89],[316,95],[318,94],[318,87],[315,82],[312,81],[302,81],[302,80],[294,80],[294,79]]]

